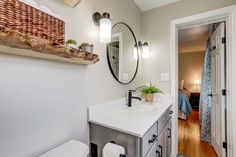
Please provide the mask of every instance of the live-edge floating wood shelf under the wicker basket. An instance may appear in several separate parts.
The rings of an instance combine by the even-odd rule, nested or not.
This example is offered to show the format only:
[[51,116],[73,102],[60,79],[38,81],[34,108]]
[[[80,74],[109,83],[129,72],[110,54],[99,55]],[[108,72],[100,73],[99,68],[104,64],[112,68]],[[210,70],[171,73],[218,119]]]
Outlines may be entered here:
[[95,64],[99,56],[65,45],[53,45],[35,37],[24,37],[15,32],[0,31],[0,53],[49,59],[76,64]]

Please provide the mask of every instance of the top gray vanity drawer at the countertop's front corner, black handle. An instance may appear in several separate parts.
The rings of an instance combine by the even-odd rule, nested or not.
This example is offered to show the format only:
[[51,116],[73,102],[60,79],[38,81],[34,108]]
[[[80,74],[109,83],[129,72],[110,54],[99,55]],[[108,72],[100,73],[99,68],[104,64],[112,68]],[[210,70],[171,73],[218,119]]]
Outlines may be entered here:
[[147,133],[142,138],[142,156],[145,156],[149,150],[152,148],[152,146],[157,141],[157,123],[155,123],[151,129],[147,131]]

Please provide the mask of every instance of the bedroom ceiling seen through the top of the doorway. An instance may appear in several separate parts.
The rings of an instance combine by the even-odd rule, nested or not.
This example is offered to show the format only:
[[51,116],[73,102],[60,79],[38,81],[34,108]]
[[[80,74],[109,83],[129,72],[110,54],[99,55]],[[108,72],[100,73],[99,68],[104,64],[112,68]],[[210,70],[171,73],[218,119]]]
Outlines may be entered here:
[[179,30],[179,52],[205,51],[209,37],[209,25]]

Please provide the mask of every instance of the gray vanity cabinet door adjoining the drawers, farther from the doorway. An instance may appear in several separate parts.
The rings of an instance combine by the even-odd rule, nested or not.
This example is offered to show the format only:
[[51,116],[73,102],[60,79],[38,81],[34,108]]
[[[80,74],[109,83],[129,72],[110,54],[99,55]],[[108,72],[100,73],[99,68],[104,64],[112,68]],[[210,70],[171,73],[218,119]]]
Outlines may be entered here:
[[167,126],[158,137],[157,157],[166,157],[166,128]]

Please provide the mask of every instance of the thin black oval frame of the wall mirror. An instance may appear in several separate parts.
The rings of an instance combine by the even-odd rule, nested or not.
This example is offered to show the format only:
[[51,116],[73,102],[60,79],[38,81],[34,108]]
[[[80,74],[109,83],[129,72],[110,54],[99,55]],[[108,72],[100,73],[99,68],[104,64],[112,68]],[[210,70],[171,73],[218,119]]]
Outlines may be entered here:
[[[130,26],[129,26],[128,24],[126,24],[126,23],[124,23],[124,22],[117,22],[116,24],[114,24],[114,25],[112,26],[112,29],[113,29],[116,25],[118,25],[118,24],[123,24],[123,25],[125,25],[126,27],[128,27],[128,29],[130,30],[131,34],[133,35],[133,38],[134,38],[134,41],[135,41],[135,45],[137,45],[137,52],[139,52],[138,42],[137,42],[137,39],[136,39],[136,37],[135,37],[135,34],[134,34],[133,30],[130,28]],[[109,44],[109,43],[108,43],[108,44]],[[116,77],[116,75],[114,74],[114,72],[113,72],[113,70],[112,70],[111,62],[110,62],[110,60],[109,60],[108,44],[106,45],[107,62],[108,62],[108,66],[109,66],[109,69],[110,69],[110,71],[111,71],[113,77],[114,77],[120,84],[123,84],[123,85],[130,84],[130,83],[135,79],[135,77],[136,77],[136,75],[137,75],[137,73],[138,73],[138,68],[139,68],[139,54],[138,54],[138,57],[137,57],[137,65],[136,65],[136,70],[135,70],[135,73],[134,73],[133,78],[132,78],[129,82],[124,83],[124,82],[121,82],[121,81],[119,80],[119,78]]]

